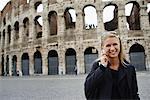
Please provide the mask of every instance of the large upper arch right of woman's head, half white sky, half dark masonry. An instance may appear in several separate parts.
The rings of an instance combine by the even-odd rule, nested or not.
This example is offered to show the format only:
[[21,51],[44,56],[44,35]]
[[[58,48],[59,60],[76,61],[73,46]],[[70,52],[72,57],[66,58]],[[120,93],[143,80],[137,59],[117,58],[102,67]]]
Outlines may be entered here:
[[127,28],[129,30],[141,30],[140,27],[140,5],[136,1],[128,2],[125,5]]

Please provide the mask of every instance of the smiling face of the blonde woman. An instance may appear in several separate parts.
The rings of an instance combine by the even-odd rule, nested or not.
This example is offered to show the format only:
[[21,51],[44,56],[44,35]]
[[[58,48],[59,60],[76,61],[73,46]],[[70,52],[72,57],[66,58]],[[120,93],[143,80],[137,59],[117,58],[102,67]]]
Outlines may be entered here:
[[116,37],[109,37],[103,42],[103,49],[109,58],[116,58],[120,53],[120,42]]

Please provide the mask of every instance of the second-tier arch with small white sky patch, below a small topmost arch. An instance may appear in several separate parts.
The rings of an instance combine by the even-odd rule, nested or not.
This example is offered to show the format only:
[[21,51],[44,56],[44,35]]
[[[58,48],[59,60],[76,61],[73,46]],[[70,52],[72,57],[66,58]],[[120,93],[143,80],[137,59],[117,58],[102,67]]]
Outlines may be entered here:
[[43,19],[41,16],[36,16],[34,19],[35,22],[35,32],[36,38],[42,38],[42,26],[43,26]]

